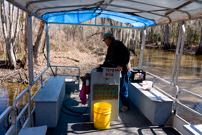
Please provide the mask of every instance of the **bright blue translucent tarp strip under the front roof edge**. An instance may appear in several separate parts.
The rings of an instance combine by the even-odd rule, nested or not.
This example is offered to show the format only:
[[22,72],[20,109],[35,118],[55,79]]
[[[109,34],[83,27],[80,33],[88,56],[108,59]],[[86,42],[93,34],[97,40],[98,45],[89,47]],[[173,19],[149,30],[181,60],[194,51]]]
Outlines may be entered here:
[[128,23],[133,25],[134,28],[145,28],[155,25],[154,21],[141,17],[111,11],[101,12],[100,10],[58,12],[43,15],[43,19],[48,23],[66,24],[81,24],[95,17],[108,18],[118,22]]

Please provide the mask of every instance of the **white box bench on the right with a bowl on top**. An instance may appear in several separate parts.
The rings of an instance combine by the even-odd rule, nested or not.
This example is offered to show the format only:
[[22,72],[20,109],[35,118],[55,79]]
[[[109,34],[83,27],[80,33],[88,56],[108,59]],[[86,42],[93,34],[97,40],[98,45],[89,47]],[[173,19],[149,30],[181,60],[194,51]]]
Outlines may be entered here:
[[128,96],[153,125],[165,125],[172,114],[173,100],[153,87],[145,91],[140,83],[129,83]]

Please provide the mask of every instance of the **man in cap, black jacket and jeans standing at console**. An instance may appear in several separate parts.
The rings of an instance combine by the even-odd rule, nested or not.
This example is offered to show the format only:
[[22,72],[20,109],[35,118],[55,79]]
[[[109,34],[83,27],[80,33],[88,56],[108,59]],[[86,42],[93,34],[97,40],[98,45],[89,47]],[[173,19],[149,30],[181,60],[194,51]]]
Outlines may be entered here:
[[121,111],[125,112],[129,107],[128,78],[131,73],[129,67],[130,52],[121,41],[115,40],[113,34],[110,32],[104,34],[103,41],[108,46],[105,62],[111,61],[116,70],[121,71],[120,97],[123,104]]

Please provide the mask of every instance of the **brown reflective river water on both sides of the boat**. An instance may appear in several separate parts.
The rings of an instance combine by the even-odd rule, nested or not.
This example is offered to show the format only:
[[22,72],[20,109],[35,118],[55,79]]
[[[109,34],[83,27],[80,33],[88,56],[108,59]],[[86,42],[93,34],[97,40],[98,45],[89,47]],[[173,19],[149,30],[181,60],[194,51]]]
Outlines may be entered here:
[[[135,52],[137,56],[131,56],[131,65],[132,67],[137,68],[140,48],[136,48]],[[157,75],[167,81],[171,81],[174,59],[175,52],[158,49],[145,49],[143,70]],[[149,76],[146,78],[149,78]],[[155,80],[154,84],[164,89],[170,95],[175,96],[176,90],[173,87],[161,84],[158,80]],[[202,56],[182,56],[178,85],[180,88],[202,95]],[[0,86],[0,114],[7,106],[12,105],[13,99],[26,87],[28,86],[13,83]],[[23,99],[21,103],[24,104],[25,101],[26,99]],[[201,99],[181,92],[180,101],[202,113]],[[184,113],[185,111],[186,114]],[[202,120],[198,116],[189,113],[189,111],[182,107],[179,108],[178,114],[192,124],[202,123]],[[5,132],[5,125],[5,122],[0,124],[0,134]]]

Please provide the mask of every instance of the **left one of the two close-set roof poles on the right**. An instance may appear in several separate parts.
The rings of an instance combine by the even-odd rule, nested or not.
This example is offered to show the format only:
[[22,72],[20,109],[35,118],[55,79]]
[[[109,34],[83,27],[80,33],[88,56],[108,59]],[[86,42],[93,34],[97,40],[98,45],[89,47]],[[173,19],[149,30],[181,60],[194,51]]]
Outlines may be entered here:
[[176,48],[176,53],[175,53],[175,61],[174,61],[174,66],[173,66],[172,78],[171,78],[172,86],[175,86],[174,77],[175,77],[175,73],[176,73],[176,66],[177,66],[177,61],[178,61],[178,56],[179,56],[179,48],[180,48],[181,38],[182,38],[182,23],[180,23],[178,42],[177,42],[177,48]]

